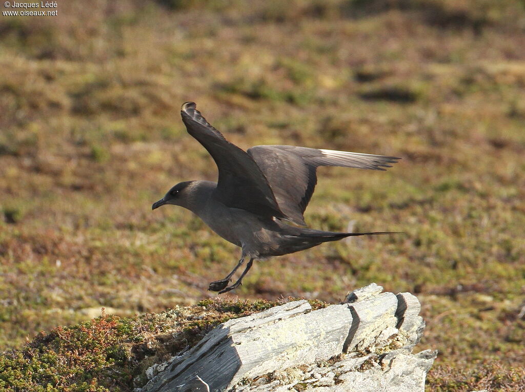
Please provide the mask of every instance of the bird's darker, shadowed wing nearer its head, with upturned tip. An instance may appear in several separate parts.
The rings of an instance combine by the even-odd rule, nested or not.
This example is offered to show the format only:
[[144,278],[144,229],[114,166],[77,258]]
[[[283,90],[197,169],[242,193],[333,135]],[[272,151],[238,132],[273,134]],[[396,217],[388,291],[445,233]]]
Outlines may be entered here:
[[244,209],[260,216],[286,218],[279,208],[270,185],[253,158],[213,128],[194,102],[181,108],[182,121],[213,157],[219,171],[214,197],[232,208]]

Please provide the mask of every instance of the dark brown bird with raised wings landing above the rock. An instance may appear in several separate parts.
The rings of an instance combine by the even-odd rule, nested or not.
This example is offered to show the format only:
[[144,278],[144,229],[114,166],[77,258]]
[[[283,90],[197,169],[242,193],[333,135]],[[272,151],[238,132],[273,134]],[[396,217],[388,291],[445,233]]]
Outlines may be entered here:
[[[393,234],[321,231],[284,221],[306,226],[303,213],[316,187],[319,166],[384,170],[400,158],[287,145],[260,145],[245,152],[213,128],[194,102],[184,103],[181,115],[188,133],[215,160],[218,181],[179,183],[152,209],[164,204],[187,208],[219,236],[242,248],[232,272],[210,283],[208,290],[225,293],[235,289],[255,259],[286,255],[350,236]],[[244,272],[228,286],[247,257],[250,260]]]

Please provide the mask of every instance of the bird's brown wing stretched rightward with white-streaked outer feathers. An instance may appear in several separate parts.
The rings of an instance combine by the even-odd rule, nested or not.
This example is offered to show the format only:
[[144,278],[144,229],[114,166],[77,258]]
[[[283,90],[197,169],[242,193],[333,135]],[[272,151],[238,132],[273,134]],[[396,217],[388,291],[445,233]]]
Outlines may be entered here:
[[385,170],[400,158],[393,156],[318,150],[308,147],[262,145],[248,149],[277,199],[281,211],[294,223],[306,225],[303,213],[317,184],[317,167],[343,166]]

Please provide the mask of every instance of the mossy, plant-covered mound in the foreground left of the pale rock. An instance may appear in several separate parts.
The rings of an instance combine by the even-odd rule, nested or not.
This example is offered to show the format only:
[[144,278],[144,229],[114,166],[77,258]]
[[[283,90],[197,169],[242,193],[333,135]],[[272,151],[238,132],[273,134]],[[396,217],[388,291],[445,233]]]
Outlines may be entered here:
[[105,315],[40,333],[0,356],[6,392],[131,392],[145,371],[183,353],[216,325],[282,303],[205,300],[135,317]]

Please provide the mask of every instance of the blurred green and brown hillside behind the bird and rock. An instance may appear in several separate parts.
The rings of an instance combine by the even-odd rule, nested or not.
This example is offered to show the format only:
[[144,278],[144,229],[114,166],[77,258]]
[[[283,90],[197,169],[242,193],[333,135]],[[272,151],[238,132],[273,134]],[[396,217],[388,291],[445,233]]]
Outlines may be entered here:
[[101,306],[133,315],[215,295],[208,282],[239,249],[189,211],[151,211],[177,182],[216,179],[180,120],[191,100],[244,149],[403,157],[387,172],[321,168],[306,220],[406,234],[259,262],[228,295],[411,291],[419,348],[440,351],[427,390],[525,390],[525,1],[57,10],[0,16],[0,349]]

